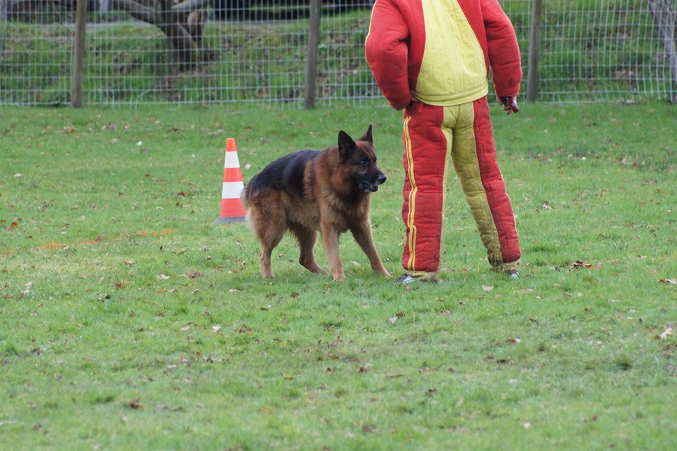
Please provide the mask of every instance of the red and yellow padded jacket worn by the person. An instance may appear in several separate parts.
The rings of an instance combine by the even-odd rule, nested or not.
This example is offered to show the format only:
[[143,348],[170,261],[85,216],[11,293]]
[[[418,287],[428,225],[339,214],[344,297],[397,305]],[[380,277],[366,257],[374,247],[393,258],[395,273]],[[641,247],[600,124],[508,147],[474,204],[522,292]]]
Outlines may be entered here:
[[457,105],[520,92],[513,25],[497,0],[376,0],[366,60],[390,105]]

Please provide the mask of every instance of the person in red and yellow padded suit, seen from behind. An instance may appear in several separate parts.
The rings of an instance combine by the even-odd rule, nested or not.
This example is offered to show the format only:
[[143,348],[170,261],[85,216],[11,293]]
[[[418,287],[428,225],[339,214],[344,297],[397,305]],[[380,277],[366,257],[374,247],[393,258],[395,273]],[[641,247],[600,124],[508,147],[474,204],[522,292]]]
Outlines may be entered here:
[[452,161],[492,270],[519,277],[520,243],[496,158],[487,81],[518,111],[520,48],[497,0],[376,0],[366,60],[390,105],[404,109],[406,243],[396,282],[436,282]]

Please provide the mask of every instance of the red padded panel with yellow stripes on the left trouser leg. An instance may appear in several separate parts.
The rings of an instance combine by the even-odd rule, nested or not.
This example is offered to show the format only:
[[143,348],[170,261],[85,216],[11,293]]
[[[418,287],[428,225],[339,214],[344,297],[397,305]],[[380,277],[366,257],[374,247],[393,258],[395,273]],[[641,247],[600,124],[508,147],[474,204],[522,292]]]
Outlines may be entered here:
[[404,111],[404,204],[406,243],[402,266],[437,272],[442,240],[442,207],[447,141],[443,109],[418,104]]

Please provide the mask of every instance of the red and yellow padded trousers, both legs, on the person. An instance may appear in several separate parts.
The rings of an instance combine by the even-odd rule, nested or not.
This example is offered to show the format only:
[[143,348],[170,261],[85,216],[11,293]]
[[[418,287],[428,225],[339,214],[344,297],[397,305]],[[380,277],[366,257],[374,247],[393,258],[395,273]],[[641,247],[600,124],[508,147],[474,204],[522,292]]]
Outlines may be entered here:
[[408,274],[436,278],[448,161],[487,249],[492,270],[513,272],[520,243],[513,207],[496,158],[487,98],[455,106],[415,102],[404,110],[404,204]]

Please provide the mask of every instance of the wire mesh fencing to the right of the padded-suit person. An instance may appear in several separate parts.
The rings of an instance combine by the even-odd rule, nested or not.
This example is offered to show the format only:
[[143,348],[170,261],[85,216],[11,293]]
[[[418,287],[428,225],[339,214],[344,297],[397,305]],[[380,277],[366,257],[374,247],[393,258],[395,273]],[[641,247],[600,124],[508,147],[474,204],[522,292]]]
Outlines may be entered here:
[[[674,98],[677,73],[671,73],[670,51],[649,11],[651,1],[544,0],[540,97],[556,102]],[[672,22],[674,44],[677,1],[659,2],[665,6],[662,18]],[[525,30],[531,13],[527,17],[520,8],[525,3],[531,1],[501,2],[518,30],[522,49],[529,46]]]

